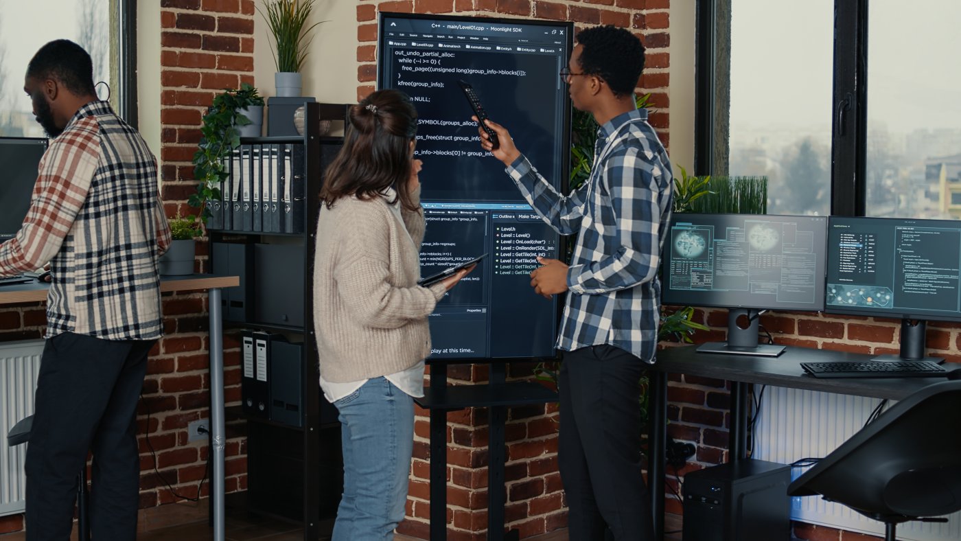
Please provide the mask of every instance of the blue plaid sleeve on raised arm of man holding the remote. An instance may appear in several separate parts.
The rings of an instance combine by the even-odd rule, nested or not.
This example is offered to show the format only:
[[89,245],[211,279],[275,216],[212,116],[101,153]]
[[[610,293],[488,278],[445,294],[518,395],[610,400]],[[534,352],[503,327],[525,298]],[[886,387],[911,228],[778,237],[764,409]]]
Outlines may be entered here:
[[505,169],[530,207],[547,220],[558,234],[575,234],[584,216],[584,190],[586,183],[568,197],[557,193],[551,185],[530,165],[522,154]]

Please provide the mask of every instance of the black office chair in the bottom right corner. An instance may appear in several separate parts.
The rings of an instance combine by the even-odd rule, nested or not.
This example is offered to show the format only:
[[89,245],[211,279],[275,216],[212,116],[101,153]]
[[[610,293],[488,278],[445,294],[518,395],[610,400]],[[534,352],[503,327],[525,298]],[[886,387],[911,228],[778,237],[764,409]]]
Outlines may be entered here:
[[961,510],[961,381],[900,401],[788,486],[884,523],[885,541],[909,521],[948,522]]

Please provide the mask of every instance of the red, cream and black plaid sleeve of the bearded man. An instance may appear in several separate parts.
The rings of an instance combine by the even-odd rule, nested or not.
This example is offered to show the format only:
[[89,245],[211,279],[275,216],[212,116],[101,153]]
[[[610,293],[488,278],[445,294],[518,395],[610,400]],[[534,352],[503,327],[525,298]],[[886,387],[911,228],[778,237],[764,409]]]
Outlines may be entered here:
[[80,129],[53,139],[40,160],[33,202],[23,227],[0,245],[0,276],[45,265],[60,251],[63,239],[73,227],[100,159],[97,123],[81,123]]

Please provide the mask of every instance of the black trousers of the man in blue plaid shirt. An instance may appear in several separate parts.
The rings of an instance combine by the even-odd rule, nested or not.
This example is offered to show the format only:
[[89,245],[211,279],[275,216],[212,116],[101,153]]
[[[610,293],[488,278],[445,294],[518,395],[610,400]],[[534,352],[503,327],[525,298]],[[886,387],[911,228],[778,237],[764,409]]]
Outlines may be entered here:
[[571,541],[653,541],[641,465],[640,379],[646,364],[613,346],[564,354],[558,380],[560,479]]

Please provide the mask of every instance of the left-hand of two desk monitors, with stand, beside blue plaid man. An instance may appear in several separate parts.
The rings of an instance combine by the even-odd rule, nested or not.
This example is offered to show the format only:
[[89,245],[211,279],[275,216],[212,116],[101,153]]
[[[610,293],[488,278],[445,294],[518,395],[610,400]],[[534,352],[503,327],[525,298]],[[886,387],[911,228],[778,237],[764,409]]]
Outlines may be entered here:
[[757,343],[766,310],[825,307],[827,218],[676,213],[662,262],[661,303],[728,308],[727,342],[699,351],[777,356]]

